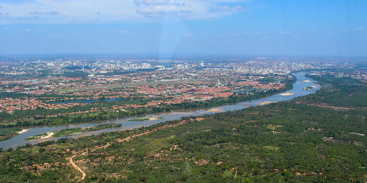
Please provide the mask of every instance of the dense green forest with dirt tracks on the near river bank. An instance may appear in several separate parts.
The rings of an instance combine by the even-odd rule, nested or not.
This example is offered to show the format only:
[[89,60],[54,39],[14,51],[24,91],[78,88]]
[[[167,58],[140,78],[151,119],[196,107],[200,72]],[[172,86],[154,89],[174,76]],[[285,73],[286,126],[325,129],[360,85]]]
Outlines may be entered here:
[[0,182],[364,183],[366,83],[314,79],[291,101],[2,150]]

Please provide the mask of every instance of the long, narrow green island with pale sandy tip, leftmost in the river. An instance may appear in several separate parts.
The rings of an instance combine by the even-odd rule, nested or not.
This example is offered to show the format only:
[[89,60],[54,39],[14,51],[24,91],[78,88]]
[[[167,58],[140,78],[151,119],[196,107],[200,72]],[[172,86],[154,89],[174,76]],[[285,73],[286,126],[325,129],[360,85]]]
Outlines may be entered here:
[[33,137],[29,137],[25,140],[33,140],[33,139],[42,139],[42,138],[51,138],[51,137],[64,137],[69,135],[74,135],[77,133],[85,133],[90,131],[96,131],[106,128],[115,128],[115,127],[121,127],[121,124],[100,124],[98,126],[91,126],[91,127],[84,127],[84,128],[69,128],[64,129],[60,131],[53,131],[53,132],[47,132],[42,133]]

